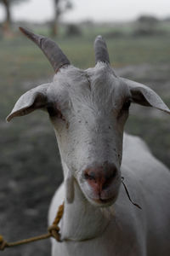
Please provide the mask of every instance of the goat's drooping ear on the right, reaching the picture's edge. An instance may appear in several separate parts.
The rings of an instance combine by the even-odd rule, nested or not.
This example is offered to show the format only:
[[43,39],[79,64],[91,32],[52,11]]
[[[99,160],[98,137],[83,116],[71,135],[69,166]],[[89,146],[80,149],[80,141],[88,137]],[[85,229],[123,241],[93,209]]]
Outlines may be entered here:
[[170,109],[167,108],[167,105],[161,100],[161,97],[158,96],[154,90],[151,90],[144,84],[139,84],[128,79],[122,80],[127,84],[131,92],[133,102],[170,113]]

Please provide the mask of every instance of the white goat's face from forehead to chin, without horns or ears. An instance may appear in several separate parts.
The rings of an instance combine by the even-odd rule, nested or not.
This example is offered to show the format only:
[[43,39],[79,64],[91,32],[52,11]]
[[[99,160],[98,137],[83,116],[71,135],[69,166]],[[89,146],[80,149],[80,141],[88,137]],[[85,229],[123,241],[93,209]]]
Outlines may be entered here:
[[62,162],[86,198],[98,206],[116,200],[121,183],[123,127],[130,92],[107,64],[61,70],[48,90],[48,113]]

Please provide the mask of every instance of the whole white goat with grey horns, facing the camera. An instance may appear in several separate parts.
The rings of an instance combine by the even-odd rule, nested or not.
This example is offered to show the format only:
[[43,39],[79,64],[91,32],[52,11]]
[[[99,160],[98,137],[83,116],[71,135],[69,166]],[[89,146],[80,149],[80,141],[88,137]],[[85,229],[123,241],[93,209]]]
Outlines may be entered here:
[[[65,212],[63,242],[52,239],[52,255],[170,255],[170,173],[139,137],[123,136],[131,102],[169,108],[144,84],[116,76],[100,36],[96,66],[83,71],[50,39],[21,31],[55,71],[51,84],[26,92],[7,118],[44,109],[54,125],[65,181],[54,195],[49,224],[63,201]],[[122,176],[142,209],[128,200]]]

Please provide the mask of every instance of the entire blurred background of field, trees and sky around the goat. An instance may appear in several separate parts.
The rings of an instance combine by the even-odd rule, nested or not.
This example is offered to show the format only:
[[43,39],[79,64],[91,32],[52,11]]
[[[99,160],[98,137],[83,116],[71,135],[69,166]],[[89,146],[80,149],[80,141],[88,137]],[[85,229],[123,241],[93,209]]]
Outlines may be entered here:
[[[126,3],[125,3],[126,2]],[[53,79],[53,68],[18,26],[54,38],[77,67],[94,67],[94,38],[105,37],[116,73],[147,84],[170,107],[169,0],[0,0],[0,234],[8,241],[45,233],[48,206],[62,180],[48,114],[7,124],[16,100]],[[133,106],[126,131],[143,137],[170,167],[170,119]],[[2,255],[49,255],[49,241]]]

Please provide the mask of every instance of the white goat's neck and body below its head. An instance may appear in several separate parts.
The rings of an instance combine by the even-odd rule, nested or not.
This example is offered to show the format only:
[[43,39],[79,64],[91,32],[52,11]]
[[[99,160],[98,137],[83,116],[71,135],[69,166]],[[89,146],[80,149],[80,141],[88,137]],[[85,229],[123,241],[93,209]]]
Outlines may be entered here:
[[[96,209],[84,199],[76,182],[75,201],[70,205],[65,201],[62,183],[49,209],[49,224],[54,220],[56,209],[65,201],[60,232],[63,238],[66,234],[68,240],[59,243],[52,239],[53,256],[169,255],[169,171],[150,154],[139,137],[124,134],[122,155],[122,176],[133,201],[142,209],[133,206],[123,187],[114,205]],[[89,230],[97,235],[83,240]]]

